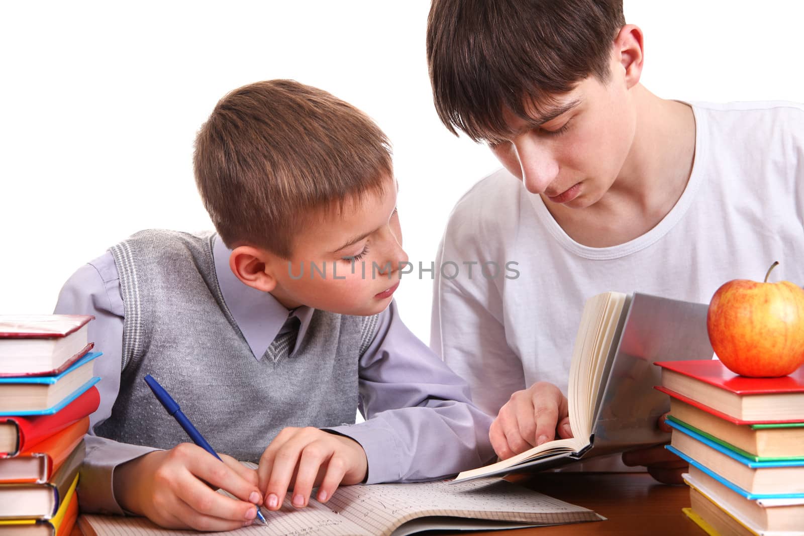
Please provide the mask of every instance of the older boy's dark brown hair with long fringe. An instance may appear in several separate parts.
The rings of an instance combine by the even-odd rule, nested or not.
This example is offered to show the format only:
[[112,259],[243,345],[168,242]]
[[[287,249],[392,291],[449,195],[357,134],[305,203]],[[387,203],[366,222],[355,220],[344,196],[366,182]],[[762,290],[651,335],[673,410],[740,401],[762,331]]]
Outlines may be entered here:
[[503,108],[552,104],[593,75],[609,77],[622,0],[433,0],[427,62],[438,117],[474,141],[506,133]]

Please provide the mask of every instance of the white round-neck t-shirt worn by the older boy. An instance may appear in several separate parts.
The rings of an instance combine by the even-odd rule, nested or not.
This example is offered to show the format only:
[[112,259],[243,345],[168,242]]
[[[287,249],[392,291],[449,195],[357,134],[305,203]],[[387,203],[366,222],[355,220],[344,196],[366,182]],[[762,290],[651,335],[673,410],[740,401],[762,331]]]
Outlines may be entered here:
[[[431,346],[468,380],[482,410],[497,415],[511,393],[537,381],[566,394],[580,312],[594,294],[708,303],[727,280],[762,280],[774,260],[781,265],[771,280],[804,284],[804,108],[693,111],[687,188],[656,227],[627,243],[576,243],[506,170],[457,203],[437,257]],[[464,264],[472,262],[480,264]],[[483,262],[498,265],[496,277],[493,264],[483,275]]]

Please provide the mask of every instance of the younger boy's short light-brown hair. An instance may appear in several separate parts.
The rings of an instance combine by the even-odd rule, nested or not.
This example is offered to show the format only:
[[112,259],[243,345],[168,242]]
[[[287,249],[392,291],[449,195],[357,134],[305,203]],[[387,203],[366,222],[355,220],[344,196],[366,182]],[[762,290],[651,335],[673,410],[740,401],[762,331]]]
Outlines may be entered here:
[[195,138],[195,183],[229,248],[251,245],[285,259],[314,211],[382,194],[391,146],[366,114],[294,80],[236,89]]

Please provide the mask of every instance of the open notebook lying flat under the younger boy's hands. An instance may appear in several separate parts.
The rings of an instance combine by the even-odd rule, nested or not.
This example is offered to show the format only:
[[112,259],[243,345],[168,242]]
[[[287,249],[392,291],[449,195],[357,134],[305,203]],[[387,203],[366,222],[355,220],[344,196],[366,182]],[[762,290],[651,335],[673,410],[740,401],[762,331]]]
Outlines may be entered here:
[[[326,505],[310,498],[310,505],[302,509],[293,508],[289,496],[278,511],[261,510],[268,525],[255,523],[219,534],[404,536],[422,530],[512,529],[605,519],[592,510],[499,479],[461,485],[437,481],[344,486]],[[146,518],[85,514],[79,524],[84,536],[198,534],[161,529]]]

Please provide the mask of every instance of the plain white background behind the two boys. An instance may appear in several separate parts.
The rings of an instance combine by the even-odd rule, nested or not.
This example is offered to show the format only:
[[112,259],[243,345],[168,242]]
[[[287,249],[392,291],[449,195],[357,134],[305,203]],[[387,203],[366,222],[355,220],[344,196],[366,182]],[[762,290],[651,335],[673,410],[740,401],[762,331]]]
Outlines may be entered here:
[[[492,0],[490,0],[492,1]],[[142,228],[211,227],[191,168],[226,92],[293,78],[365,110],[394,144],[404,242],[433,260],[457,198],[496,169],[439,123],[429,2],[2,2],[0,313],[49,313],[70,274]],[[626,1],[643,83],[682,100],[804,101],[804,2]],[[396,299],[427,340],[432,282]]]

